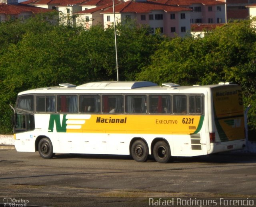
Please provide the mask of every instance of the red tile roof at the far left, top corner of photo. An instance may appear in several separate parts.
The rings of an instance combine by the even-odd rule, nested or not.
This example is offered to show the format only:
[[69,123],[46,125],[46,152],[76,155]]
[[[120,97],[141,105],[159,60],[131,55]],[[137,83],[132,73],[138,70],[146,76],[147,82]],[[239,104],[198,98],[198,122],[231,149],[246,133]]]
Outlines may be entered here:
[[30,6],[26,4],[5,4],[0,3],[0,13],[2,14],[21,14],[22,12],[32,12],[33,14],[41,12],[50,12],[51,9],[40,8],[36,6]]

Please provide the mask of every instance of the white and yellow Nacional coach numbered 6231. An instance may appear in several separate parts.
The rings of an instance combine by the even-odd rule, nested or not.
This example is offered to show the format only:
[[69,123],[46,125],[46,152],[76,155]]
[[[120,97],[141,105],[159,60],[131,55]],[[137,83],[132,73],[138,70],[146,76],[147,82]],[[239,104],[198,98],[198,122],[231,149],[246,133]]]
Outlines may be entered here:
[[20,92],[14,107],[17,151],[154,157],[198,156],[245,147],[237,84],[91,82]]

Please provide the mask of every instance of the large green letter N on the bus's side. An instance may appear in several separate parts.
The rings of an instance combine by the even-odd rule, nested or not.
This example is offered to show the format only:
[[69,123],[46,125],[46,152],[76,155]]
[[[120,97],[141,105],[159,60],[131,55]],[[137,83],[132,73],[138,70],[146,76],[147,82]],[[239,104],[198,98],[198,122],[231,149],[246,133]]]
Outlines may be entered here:
[[56,124],[56,131],[57,132],[66,132],[66,114],[63,115],[62,117],[62,124],[60,124],[60,114],[51,114],[50,115],[50,121],[49,121],[49,127],[48,127],[48,132],[53,132],[54,129],[54,123]]

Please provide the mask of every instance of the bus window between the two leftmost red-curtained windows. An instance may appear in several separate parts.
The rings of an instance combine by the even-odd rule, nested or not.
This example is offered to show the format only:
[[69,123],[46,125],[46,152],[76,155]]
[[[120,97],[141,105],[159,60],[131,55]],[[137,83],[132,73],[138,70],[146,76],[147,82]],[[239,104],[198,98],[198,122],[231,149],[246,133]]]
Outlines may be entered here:
[[100,112],[100,96],[98,95],[81,95],[79,97],[80,113],[99,113]]

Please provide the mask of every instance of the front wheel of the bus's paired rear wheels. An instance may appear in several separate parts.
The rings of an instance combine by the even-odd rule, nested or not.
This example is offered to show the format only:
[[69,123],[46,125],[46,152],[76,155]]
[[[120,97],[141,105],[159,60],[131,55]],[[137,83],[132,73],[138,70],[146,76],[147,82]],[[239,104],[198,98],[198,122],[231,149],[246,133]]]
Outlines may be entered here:
[[131,153],[132,158],[137,162],[145,162],[148,159],[148,147],[142,140],[134,141]]

